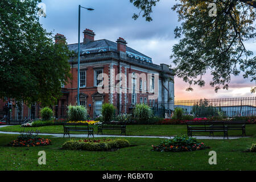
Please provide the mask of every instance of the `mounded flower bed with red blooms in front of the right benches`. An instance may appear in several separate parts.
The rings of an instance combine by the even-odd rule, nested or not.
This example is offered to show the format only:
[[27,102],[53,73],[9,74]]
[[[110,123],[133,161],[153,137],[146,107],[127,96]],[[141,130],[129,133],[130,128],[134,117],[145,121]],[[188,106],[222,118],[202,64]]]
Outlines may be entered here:
[[174,137],[174,139],[164,140],[158,146],[152,145],[151,151],[168,151],[168,152],[181,152],[181,151],[195,151],[204,150],[209,148],[203,142],[197,142],[196,138],[192,137]]

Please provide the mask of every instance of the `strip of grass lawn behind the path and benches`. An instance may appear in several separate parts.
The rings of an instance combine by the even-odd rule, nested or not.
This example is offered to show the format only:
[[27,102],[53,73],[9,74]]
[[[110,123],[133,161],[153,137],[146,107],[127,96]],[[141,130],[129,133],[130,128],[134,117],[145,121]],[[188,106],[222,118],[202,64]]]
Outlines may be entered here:
[[[41,127],[20,127],[19,125],[7,126],[0,128],[0,131],[14,131],[20,132],[23,129],[28,130],[39,130],[40,133],[61,133],[63,134],[63,126],[41,126]],[[97,134],[97,126],[94,126],[94,133]],[[115,130],[103,130],[104,134],[120,134],[121,131]],[[79,134],[79,133],[74,133]],[[152,135],[152,136],[175,136],[187,134],[187,125],[127,125],[127,135]],[[229,136],[241,136],[242,131],[228,131]],[[206,135],[209,133],[193,133],[193,135]],[[223,136],[223,133],[214,133],[214,135]],[[246,135],[256,137],[256,125],[246,125]]]

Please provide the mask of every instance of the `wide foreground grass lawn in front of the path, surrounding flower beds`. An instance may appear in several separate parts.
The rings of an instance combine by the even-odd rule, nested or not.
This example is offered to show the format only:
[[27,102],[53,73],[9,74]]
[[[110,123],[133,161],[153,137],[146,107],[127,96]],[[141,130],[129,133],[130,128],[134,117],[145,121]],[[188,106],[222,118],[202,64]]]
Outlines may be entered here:
[[[51,138],[52,145],[7,147],[17,135],[0,134],[1,170],[256,170],[256,153],[244,152],[256,138],[199,140],[210,149],[192,152],[150,151],[159,138],[126,138],[133,147],[112,152],[60,150],[68,138]],[[50,137],[49,137],[50,138]],[[38,152],[46,151],[46,165]],[[217,165],[208,163],[209,151],[217,152]]]

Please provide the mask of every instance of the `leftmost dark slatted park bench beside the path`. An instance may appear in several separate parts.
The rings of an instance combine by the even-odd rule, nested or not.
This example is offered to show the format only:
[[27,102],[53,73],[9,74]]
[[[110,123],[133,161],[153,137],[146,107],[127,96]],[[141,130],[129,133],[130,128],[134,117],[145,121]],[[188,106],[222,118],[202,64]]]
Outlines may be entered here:
[[89,126],[87,123],[64,123],[63,124],[63,129],[64,129],[64,135],[68,135],[68,137],[70,137],[69,132],[70,131],[86,131],[88,132],[88,138],[89,135],[93,135],[93,127]]

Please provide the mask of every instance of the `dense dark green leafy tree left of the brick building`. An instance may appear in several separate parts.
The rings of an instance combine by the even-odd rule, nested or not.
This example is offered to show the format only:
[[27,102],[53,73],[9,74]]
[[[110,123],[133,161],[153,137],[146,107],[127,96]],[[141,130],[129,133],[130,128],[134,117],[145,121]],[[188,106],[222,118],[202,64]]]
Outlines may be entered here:
[[71,78],[69,52],[39,23],[40,0],[0,2],[0,98],[55,104]]

